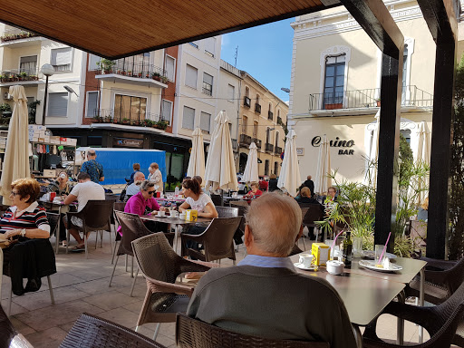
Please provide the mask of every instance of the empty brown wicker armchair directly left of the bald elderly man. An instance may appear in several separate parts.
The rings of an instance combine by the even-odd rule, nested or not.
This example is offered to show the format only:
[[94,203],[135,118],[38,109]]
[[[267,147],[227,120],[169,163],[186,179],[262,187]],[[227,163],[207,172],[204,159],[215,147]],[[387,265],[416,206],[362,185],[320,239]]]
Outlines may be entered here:
[[132,241],[134,257],[147,280],[147,294],[141,306],[135,331],[145,323],[158,323],[153,340],[161,323],[176,321],[176,313],[187,311],[194,287],[177,285],[176,278],[185,272],[206,272],[214,264],[192,262],[180,257],[169,246],[164,233],[154,233]]

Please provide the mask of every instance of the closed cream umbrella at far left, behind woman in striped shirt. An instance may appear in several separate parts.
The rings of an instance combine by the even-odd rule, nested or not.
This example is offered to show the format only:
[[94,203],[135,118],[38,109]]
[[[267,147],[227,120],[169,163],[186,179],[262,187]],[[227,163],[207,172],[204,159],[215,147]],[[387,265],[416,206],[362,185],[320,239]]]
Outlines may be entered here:
[[13,96],[13,115],[8,127],[6,139],[5,161],[0,179],[0,194],[3,204],[11,205],[9,199],[11,183],[15,179],[29,178],[29,134],[27,131],[27,98],[23,86],[11,86]]

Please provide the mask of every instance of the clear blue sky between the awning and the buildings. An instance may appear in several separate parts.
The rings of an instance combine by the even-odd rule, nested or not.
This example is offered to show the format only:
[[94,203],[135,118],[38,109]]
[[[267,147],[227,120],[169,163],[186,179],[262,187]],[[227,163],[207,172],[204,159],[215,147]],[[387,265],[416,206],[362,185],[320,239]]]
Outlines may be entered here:
[[295,17],[222,35],[221,59],[245,70],[284,102],[290,88]]

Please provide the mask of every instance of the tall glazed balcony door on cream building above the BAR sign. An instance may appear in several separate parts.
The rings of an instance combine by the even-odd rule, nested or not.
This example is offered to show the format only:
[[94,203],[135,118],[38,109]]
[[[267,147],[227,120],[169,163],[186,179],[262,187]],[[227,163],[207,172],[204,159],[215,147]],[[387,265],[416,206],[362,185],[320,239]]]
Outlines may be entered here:
[[343,107],[345,55],[325,58],[323,109]]

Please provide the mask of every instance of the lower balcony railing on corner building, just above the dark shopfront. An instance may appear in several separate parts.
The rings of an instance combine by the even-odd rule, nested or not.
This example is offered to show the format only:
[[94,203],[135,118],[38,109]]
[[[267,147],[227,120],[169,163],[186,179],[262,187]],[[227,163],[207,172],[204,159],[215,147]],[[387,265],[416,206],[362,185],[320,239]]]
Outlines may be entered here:
[[139,111],[121,111],[114,109],[94,109],[94,123],[113,123],[128,126],[152,127],[159,130],[166,130],[169,120],[163,120],[162,115]]

